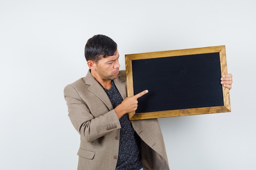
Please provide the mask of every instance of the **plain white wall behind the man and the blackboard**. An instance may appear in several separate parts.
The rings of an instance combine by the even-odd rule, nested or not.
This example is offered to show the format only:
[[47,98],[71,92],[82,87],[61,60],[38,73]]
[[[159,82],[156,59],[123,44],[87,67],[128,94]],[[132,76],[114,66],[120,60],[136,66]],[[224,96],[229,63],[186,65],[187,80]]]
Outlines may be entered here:
[[231,113],[159,119],[171,170],[256,169],[254,0],[0,0],[0,169],[75,170],[63,88],[95,34],[124,55],[226,46]]

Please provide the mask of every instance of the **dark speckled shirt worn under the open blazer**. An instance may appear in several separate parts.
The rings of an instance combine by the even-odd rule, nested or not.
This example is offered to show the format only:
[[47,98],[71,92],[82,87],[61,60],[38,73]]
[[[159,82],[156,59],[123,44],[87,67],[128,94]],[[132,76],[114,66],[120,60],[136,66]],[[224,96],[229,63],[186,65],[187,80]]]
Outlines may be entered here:
[[[113,106],[117,107],[123,101],[114,82],[111,81],[110,90],[103,88]],[[139,170],[142,168],[140,145],[141,139],[132,128],[126,113],[120,119],[120,141],[116,170]]]

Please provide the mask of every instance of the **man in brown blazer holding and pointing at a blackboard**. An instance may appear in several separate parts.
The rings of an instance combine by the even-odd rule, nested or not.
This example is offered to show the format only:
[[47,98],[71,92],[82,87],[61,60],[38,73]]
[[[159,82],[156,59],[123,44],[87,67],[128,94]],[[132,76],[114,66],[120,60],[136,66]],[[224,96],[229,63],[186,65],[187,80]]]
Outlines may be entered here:
[[[81,135],[78,170],[169,170],[157,119],[129,121],[137,99],[127,97],[125,71],[119,71],[117,44],[94,35],[85,45],[87,75],[64,89],[69,117]],[[222,77],[231,88],[232,75]]]

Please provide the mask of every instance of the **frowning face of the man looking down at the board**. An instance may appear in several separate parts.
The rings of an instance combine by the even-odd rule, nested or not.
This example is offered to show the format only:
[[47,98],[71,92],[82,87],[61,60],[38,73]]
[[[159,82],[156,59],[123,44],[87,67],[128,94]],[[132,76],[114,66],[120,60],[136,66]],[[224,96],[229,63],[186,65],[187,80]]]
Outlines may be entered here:
[[117,78],[119,74],[119,53],[105,58],[101,58],[97,63],[95,63],[95,68],[98,76],[103,80],[113,80]]

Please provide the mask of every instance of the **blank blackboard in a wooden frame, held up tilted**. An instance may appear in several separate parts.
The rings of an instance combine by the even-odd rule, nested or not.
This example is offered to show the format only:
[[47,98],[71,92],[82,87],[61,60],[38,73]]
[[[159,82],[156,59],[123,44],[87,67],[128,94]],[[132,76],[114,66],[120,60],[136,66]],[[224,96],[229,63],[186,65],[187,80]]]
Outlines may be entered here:
[[150,86],[148,94],[138,99],[138,109],[128,113],[130,120],[231,111],[229,89],[220,84],[221,76],[227,74],[225,46],[129,54],[125,62],[128,97]]

